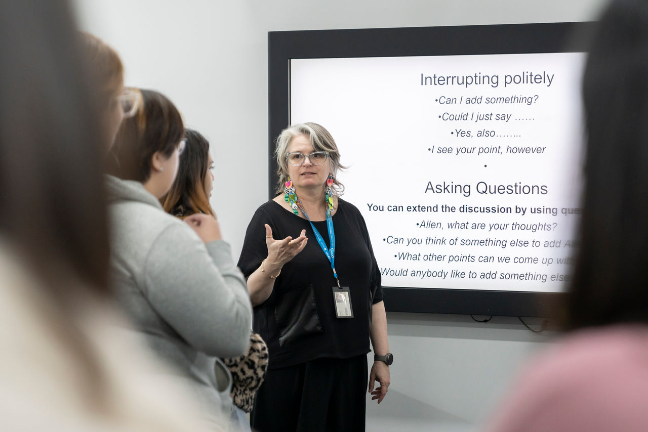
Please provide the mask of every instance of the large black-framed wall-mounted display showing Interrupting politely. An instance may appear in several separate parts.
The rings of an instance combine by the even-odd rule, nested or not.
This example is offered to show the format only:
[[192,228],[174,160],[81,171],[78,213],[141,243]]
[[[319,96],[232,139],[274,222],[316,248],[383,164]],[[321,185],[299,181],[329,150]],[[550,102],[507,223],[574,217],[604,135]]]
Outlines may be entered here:
[[[270,32],[270,144],[340,148],[388,310],[546,316],[581,206],[591,23]],[[270,196],[275,165],[270,163]]]

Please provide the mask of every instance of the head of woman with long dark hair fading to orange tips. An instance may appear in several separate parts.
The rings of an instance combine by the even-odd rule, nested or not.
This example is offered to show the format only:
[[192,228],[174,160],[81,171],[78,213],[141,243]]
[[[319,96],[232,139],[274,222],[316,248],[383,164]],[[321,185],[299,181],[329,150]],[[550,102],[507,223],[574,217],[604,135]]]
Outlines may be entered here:
[[211,214],[209,198],[214,185],[214,161],[209,153],[209,142],[198,131],[185,130],[185,150],[178,168],[178,176],[170,190],[161,199],[165,212],[184,219],[194,213]]

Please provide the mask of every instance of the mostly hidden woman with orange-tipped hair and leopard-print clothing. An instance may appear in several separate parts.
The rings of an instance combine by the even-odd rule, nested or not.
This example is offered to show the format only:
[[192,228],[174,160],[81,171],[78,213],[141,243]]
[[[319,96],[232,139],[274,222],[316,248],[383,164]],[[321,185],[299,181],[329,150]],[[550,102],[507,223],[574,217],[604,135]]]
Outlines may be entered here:
[[[209,141],[192,129],[185,129],[185,150],[179,161],[178,176],[160,201],[166,212],[185,219],[196,213],[216,216],[209,204],[214,183],[214,161]],[[251,332],[248,348],[242,356],[224,358],[232,374],[232,422],[249,431],[246,412],[252,409],[254,397],[268,368],[268,347],[260,335]]]

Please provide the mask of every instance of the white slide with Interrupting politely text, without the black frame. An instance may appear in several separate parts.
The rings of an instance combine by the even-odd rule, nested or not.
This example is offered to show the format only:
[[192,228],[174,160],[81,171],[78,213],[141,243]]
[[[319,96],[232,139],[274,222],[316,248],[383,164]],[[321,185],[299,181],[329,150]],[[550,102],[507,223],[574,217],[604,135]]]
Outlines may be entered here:
[[291,61],[290,121],[336,140],[342,198],[367,222],[383,286],[564,291],[582,211],[584,60]]

